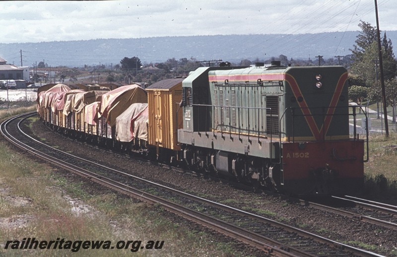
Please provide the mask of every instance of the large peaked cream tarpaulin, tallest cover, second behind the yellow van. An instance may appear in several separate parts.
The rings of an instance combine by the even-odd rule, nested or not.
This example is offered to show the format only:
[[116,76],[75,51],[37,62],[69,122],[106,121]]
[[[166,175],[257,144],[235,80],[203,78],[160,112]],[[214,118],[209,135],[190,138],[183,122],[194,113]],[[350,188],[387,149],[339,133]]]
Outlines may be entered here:
[[102,95],[98,118],[103,116],[113,127],[116,125],[116,118],[134,103],[147,103],[146,90],[138,84],[116,88]]

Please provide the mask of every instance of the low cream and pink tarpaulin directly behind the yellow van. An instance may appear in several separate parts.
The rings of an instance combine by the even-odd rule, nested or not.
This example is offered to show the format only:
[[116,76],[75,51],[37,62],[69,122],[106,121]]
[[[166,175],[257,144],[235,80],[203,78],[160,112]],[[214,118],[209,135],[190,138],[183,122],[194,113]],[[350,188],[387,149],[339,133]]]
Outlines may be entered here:
[[134,137],[138,137],[147,141],[147,126],[147,104],[132,104],[116,118],[116,139],[130,142]]

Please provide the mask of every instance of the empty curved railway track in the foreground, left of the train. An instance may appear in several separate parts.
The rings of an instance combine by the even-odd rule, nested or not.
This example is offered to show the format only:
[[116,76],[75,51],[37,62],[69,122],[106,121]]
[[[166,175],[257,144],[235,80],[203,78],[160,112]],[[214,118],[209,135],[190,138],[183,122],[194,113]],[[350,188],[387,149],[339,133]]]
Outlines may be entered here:
[[34,113],[17,116],[1,124],[3,136],[23,151],[122,193],[146,202],[160,204],[173,213],[269,254],[276,256],[380,256],[46,146],[22,131],[20,124],[29,115],[32,116]]

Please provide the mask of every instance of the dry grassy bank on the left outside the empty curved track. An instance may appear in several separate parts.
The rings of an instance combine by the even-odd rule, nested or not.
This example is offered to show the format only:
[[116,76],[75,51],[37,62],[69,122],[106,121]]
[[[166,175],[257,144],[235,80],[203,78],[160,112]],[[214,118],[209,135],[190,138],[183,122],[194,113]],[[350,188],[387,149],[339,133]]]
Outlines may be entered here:
[[[1,111],[0,120],[31,109]],[[235,256],[233,243],[186,224],[174,224],[160,207],[112,191],[87,193],[49,165],[20,154],[0,140],[0,256]],[[73,208],[74,206],[74,208]],[[78,211],[77,211],[78,210]],[[167,214],[167,215],[163,215]],[[161,250],[4,250],[8,240],[164,241]],[[141,246],[142,246],[141,245]],[[77,247],[77,245],[75,245]],[[136,246],[136,245],[135,245]],[[238,249],[234,247],[234,249]]]

